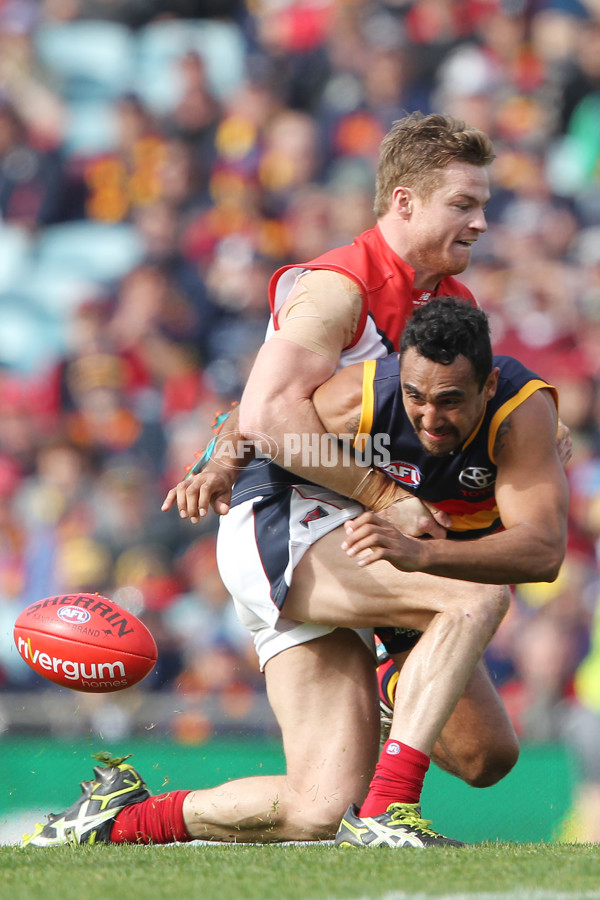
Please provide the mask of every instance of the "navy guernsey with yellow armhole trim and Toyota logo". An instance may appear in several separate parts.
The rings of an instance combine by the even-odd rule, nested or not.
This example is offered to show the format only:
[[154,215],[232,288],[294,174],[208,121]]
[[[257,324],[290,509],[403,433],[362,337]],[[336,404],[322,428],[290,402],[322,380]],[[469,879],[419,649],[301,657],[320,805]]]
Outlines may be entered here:
[[[398,355],[369,360],[363,368],[363,400],[356,449],[373,454],[375,464],[416,497],[448,513],[447,536],[474,540],[502,528],[495,498],[497,465],[494,443],[510,413],[535,391],[556,389],[511,356],[495,356],[498,390],[488,401],[479,425],[462,448],[447,456],[427,453],[416,436],[402,402]],[[364,445],[371,436],[371,446]],[[362,437],[361,437],[362,436]],[[381,464],[380,459],[386,461]],[[388,455],[389,454],[389,455]]]

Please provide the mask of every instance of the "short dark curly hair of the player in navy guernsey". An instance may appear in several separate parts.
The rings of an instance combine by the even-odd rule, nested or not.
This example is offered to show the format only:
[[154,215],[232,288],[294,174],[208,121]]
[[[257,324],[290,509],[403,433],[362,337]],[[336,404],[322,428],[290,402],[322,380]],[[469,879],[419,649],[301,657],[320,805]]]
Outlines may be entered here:
[[492,371],[488,317],[483,310],[458,297],[436,297],[417,307],[402,334],[400,352],[409,347],[445,366],[457,356],[466,356],[475,371],[479,390]]

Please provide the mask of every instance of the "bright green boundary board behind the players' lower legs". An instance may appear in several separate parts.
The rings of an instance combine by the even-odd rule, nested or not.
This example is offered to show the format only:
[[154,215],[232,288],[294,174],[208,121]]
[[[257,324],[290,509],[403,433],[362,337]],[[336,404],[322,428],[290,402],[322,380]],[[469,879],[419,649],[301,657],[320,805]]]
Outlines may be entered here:
[[[79,796],[79,782],[92,774],[91,754],[104,749],[133,753],[132,762],[155,794],[284,771],[279,741],[247,736],[215,738],[197,746],[133,739],[103,746],[91,739],[6,736],[0,742],[0,845],[16,843],[36,821],[45,821],[48,812],[69,806]],[[563,748],[523,747],[510,775],[483,791],[432,766],[423,791],[423,814],[436,830],[469,843],[573,840],[563,826],[574,783]]]

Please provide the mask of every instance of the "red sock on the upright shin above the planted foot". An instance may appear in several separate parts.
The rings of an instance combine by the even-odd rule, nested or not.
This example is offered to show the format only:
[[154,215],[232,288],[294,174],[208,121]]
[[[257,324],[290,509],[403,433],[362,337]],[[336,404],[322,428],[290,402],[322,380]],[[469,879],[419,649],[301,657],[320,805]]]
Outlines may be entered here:
[[387,740],[360,815],[378,816],[390,803],[418,803],[429,761],[426,753],[400,741]]

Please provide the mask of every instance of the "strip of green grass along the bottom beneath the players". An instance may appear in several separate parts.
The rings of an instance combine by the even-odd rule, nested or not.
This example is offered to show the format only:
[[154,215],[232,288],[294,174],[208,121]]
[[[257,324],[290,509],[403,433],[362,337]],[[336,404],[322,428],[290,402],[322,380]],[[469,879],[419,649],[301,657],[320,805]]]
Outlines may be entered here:
[[2,900],[588,900],[600,846],[0,847]]

